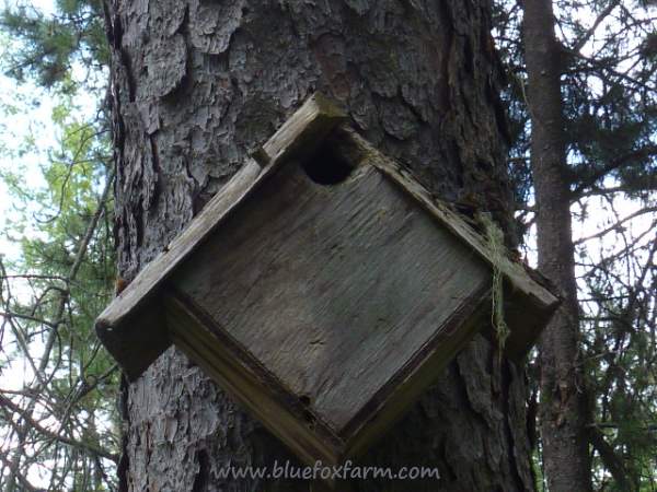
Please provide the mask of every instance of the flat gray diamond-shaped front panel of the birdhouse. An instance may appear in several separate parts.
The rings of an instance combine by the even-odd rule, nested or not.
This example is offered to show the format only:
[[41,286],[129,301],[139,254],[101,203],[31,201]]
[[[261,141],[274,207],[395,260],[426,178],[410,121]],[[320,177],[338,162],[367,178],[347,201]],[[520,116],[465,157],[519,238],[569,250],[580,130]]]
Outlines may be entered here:
[[343,433],[489,273],[377,168],[324,187],[290,165],[171,282]]

